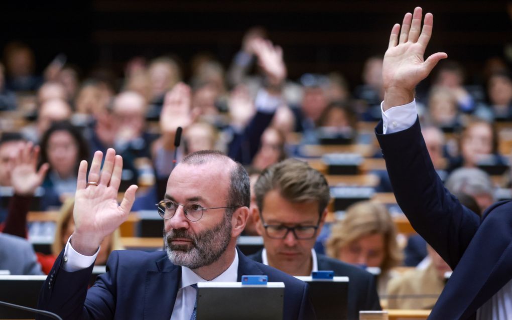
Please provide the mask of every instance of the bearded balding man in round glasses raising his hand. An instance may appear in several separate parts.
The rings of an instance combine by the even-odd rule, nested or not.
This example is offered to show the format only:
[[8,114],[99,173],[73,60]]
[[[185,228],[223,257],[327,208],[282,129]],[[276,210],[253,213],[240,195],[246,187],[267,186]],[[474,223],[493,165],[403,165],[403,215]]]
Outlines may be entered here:
[[87,290],[99,244],[126,220],[137,190],[130,186],[118,205],[122,158],[109,149],[100,173],[101,160],[96,152],[87,181],[87,162],[80,163],[75,231],[41,289],[39,308],[71,319],[195,319],[198,282],[268,275],[285,283],[284,319],[315,318],[305,283],[236,248],[249,215],[249,178],[215,151],[188,155],[169,176],[157,205],[166,252],[114,251],[106,273]]

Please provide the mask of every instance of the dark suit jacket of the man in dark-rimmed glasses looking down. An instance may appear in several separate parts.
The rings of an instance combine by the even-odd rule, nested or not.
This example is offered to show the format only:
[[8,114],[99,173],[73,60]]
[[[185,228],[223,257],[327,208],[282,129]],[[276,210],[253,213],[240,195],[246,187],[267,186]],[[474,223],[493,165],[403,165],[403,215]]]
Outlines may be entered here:
[[[261,263],[261,252],[262,250],[247,258]],[[372,274],[324,254],[317,253],[316,260],[318,270],[333,270],[336,276],[349,277],[348,318],[350,320],[357,320],[360,310],[380,310],[377,287]]]

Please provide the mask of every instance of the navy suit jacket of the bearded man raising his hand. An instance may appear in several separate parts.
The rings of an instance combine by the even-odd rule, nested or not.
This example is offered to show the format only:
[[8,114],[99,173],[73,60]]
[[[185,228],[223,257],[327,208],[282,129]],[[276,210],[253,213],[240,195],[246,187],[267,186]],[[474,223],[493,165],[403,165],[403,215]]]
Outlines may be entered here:
[[[255,263],[238,251],[238,281],[242,275],[268,275],[270,282],[284,282],[284,319],[315,319],[307,285],[274,268]],[[106,273],[87,290],[92,266],[67,272],[62,253],[41,288],[38,308],[65,319],[169,320],[174,309],[181,267],[165,251],[113,251]],[[226,302],[225,308],[229,306]]]

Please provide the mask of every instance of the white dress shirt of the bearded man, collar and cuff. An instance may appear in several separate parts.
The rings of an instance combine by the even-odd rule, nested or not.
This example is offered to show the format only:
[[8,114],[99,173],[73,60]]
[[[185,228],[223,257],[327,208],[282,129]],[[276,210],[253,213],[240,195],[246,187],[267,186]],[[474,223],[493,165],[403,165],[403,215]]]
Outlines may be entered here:
[[[71,238],[70,238],[71,239]],[[89,268],[96,259],[98,251],[92,256],[87,256],[76,252],[71,246],[70,241],[66,244],[64,249],[64,262],[62,268],[66,271],[73,272],[80,269]],[[210,280],[212,282],[237,282],[238,280],[238,252],[234,250],[234,259],[229,268],[222,272],[217,278]],[[197,284],[198,282],[207,282],[194,271],[187,267],[181,267],[181,280],[178,286],[178,294],[174,303],[173,313],[170,320],[189,320],[194,305],[196,304],[196,289],[190,285]],[[172,286],[173,284],[169,284]],[[172,303],[172,302],[169,302]]]

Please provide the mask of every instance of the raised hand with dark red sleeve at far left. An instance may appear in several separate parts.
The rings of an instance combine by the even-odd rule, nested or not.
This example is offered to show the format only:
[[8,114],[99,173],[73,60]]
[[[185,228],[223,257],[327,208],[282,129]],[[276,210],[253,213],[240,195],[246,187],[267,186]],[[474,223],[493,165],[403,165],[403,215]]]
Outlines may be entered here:
[[15,194],[32,196],[35,189],[41,185],[50,165],[45,163],[36,170],[39,152],[39,146],[34,146],[32,142],[25,143],[18,151],[11,172],[11,184]]

